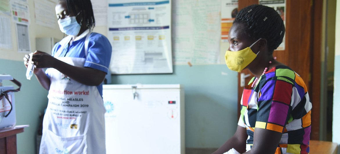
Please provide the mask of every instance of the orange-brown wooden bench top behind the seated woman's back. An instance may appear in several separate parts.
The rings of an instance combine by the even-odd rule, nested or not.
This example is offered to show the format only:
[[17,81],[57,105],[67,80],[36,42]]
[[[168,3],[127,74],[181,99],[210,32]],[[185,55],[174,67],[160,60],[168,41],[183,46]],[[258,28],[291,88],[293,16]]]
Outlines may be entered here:
[[338,144],[328,141],[309,141],[309,154],[337,154]]

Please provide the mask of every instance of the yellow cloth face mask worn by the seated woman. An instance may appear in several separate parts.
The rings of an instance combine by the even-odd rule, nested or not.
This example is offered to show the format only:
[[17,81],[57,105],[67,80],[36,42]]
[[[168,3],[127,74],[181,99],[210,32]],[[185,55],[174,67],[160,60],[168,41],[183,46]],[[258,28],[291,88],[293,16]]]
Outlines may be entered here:
[[[260,38],[261,39],[261,38]],[[259,41],[258,39],[257,41]],[[256,41],[256,42],[257,42]],[[241,72],[245,67],[247,67],[260,52],[256,54],[252,51],[251,47],[256,43],[254,42],[250,47],[246,47],[240,51],[226,51],[225,52],[225,64],[228,68],[233,71]]]

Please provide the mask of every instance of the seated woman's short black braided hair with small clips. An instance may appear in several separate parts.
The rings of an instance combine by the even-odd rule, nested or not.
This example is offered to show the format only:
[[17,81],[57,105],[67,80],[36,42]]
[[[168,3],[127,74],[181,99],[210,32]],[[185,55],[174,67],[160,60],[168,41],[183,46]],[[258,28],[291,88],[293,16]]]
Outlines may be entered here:
[[270,54],[281,44],[286,31],[280,15],[273,8],[264,5],[250,5],[243,8],[233,23],[244,24],[245,33],[254,40],[267,39]]

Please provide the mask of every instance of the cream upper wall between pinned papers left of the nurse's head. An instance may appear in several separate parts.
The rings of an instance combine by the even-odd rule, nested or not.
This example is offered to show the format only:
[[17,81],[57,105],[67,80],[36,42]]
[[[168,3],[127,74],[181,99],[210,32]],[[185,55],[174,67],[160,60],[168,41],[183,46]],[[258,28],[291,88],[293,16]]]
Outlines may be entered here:
[[[54,37],[58,39],[62,39],[64,34],[59,30],[58,24],[55,24],[55,28],[47,28],[41,25],[37,25],[35,23],[35,7],[34,0],[28,0],[29,4],[29,14],[30,14],[30,24],[29,24],[29,37],[31,44],[31,52],[35,51],[35,38],[36,37]],[[54,10],[53,10],[54,11]],[[16,29],[15,22],[11,17],[11,33],[12,33],[12,46],[13,49],[3,49],[0,48],[0,58],[14,61],[22,61],[22,58],[27,53],[19,53],[17,48],[17,37],[16,37]],[[46,51],[49,52],[49,51]]]

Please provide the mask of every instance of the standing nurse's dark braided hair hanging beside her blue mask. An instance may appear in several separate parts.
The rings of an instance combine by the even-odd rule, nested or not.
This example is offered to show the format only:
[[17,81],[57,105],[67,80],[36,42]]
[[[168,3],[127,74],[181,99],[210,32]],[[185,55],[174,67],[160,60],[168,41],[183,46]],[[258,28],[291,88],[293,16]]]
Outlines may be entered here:
[[[63,0],[59,0],[63,1]],[[92,4],[90,0],[64,0],[66,1],[67,10],[69,13],[77,15],[80,14],[83,18],[83,23],[86,24],[88,29],[93,29],[96,25],[95,16],[92,10]],[[85,20],[85,21],[84,21]]]

